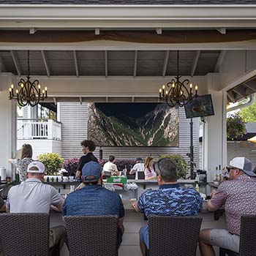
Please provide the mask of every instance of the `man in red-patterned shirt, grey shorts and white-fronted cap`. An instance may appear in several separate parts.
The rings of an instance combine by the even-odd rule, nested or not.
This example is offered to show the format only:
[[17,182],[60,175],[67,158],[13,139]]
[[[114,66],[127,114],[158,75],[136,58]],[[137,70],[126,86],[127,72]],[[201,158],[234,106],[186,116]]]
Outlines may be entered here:
[[208,211],[225,206],[227,230],[200,231],[199,245],[203,256],[214,256],[213,246],[239,252],[241,216],[256,215],[256,174],[252,172],[252,162],[245,157],[235,157],[227,171],[230,180],[223,181],[217,191],[211,193],[207,203]]

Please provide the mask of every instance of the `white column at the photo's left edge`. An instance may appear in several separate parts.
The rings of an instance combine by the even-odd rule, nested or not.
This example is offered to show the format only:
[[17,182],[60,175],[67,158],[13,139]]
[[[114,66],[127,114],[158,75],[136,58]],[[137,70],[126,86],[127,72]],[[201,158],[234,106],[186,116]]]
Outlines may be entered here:
[[15,77],[11,74],[0,76],[0,165],[7,168],[7,176],[12,176],[9,158],[16,157],[16,113],[17,104],[8,99],[10,84],[15,85]]

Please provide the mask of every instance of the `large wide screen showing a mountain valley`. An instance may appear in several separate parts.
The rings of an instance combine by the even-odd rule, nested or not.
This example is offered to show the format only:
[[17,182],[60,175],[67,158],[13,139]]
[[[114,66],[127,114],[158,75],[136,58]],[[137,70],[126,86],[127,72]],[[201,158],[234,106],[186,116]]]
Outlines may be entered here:
[[89,103],[88,136],[97,146],[178,147],[178,109],[162,103]]

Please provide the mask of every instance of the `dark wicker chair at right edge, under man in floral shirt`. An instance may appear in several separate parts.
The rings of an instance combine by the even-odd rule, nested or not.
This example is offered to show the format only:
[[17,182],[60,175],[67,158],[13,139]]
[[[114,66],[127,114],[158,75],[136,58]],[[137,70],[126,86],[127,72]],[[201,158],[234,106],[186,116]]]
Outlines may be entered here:
[[256,216],[241,217],[241,234],[239,253],[219,248],[219,256],[255,256],[256,252]]

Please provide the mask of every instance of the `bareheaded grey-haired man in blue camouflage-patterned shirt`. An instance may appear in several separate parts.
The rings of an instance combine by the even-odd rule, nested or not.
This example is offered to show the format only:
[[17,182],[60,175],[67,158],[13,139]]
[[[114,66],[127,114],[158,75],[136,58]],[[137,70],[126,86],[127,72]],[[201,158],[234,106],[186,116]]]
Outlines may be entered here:
[[[156,165],[159,189],[147,189],[134,203],[136,211],[149,215],[194,216],[203,205],[200,194],[193,188],[186,189],[177,184],[176,164],[168,158],[159,159]],[[148,225],[140,229],[140,249],[146,255],[149,249]]]

